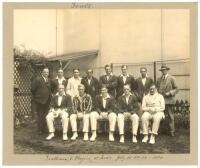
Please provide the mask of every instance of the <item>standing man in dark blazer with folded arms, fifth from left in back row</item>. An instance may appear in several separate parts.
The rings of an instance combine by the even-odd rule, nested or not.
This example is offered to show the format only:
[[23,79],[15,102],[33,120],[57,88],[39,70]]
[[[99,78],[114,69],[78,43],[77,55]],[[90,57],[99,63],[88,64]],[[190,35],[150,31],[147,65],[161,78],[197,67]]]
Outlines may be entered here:
[[104,85],[108,89],[108,94],[112,97],[116,97],[117,77],[112,74],[110,65],[105,66],[106,75],[103,75],[99,79],[100,88]]

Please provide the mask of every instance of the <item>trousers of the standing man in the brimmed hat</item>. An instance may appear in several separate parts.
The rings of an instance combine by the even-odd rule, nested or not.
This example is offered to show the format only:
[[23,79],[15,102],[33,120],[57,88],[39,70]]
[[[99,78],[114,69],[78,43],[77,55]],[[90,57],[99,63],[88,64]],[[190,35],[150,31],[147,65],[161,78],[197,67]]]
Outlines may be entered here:
[[175,132],[175,125],[174,125],[174,109],[172,104],[165,105],[165,114],[168,115],[168,122],[169,122],[169,129],[170,132]]

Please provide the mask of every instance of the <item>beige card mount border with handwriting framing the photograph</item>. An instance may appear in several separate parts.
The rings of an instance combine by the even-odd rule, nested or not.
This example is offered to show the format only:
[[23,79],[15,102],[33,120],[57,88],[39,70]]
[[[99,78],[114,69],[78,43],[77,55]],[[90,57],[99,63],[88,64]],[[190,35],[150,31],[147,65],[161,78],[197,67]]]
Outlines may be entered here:
[[[84,4],[84,3],[77,3]],[[189,3],[87,3],[90,9],[190,9],[190,154],[14,154],[13,11],[72,9],[73,3],[3,3],[3,164],[4,165],[194,165],[198,163],[197,6]],[[74,8],[73,8],[74,9]],[[77,7],[75,9],[82,9]],[[9,130],[9,131],[8,131]]]

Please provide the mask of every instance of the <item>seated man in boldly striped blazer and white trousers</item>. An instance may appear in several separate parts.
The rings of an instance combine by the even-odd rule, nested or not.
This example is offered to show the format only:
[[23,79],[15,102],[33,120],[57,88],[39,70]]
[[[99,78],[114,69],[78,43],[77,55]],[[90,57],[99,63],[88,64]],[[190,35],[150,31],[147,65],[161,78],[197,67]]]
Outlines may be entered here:
[[83,119],[83,132],[84,141],[88,141],[89,132],[89,117],[92,109],[92,98],[89,94],[85,93],[85,87],[83,84],[78,85],[78,95],[73,97],[72,111],[73,114],[70,116],[70,123],[72,127],[73,135],[71,140],[76,140],[77,134],[77,119]]

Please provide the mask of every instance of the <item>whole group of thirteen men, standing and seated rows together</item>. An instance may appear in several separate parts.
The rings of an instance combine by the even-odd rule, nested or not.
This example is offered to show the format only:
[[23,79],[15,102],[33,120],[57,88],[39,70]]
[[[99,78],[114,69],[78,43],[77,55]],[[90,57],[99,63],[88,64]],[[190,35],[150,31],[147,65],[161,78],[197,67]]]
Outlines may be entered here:
[[[170,68],[162,65],[162,75],[156,83],[148,77],[147,68],[141,67],[137,79],[128,73],[128,66],[121,66],[121,75],[116,76],[110,65],[105,66],[105,75],[99,80],[93,76],[93,69],[80,76],[78,68],[73,76],[65,79],[63,70],[58,69],[57,77],[49,79],[49,69],[44,67],[40,76],[31,83],[31,92],[37,112],[38,131],[48,132],[46,140],[55,134],[54,119],[62,122],[63,140],[68,140],[68,126],[71,125],[71,140],[78,138],[77,120],[83,122],[83,140],[95,141],[99,119],[109,122],[109,141],[115,141],[115,128],[118,126],[119,141],[124,143],[124,126],[127,120],[132,123],[132,142],[137,143],[137,134],[143,134],[143,143],[155,144],[160,122],[169,116],[169,134],[174,136],[173,104],[178,87]],[[89,134],[90,133],[90,134]],[[89,135],[91,135],[89,137]]]

